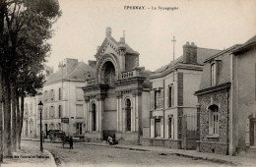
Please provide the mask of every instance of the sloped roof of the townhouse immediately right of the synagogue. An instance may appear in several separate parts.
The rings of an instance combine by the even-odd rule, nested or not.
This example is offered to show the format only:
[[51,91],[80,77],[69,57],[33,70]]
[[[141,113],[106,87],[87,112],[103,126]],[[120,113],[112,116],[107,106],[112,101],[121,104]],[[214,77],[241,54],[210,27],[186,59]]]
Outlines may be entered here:
[[[206,59],[208,59],[209,57],[211,57],[211,56],[213,56],[213,55],[215,55],[219,52],[221,52],[221,50],[198,47],[197,48],[197,62],[198,62],[198,64],[203,65],[204,61]],[[176,58],[174,60],[174,63],[175,64],[183,63],[183,55]],[[160,67],[160,69],[156,70],[154,73],[161,73],[161,72],[171,68],[172,65],[173,65],[173,61],[171,61],[169,64],[167,64],[165,66]]]

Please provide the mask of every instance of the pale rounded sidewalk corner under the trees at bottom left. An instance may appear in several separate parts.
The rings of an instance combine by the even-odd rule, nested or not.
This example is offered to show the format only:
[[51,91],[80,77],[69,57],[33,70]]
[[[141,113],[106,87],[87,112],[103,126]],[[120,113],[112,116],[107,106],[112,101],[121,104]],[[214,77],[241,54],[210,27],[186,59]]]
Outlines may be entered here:
[[4,163],[1,167],[57,167],[52,154],[43,149],[43,153],[38,148],[22,145],[22,149],[18,149],[13,153],[12,157],[4,157]]

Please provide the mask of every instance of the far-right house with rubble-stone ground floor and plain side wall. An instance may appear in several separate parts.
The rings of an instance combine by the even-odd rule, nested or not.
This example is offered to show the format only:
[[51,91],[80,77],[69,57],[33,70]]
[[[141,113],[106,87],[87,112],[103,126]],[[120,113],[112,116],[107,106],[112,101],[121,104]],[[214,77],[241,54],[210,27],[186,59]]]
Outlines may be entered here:
[[[205,61],[198,96],[198,151],[255,151],[256,36]],[[254,150],[253,150],[254,149]]]

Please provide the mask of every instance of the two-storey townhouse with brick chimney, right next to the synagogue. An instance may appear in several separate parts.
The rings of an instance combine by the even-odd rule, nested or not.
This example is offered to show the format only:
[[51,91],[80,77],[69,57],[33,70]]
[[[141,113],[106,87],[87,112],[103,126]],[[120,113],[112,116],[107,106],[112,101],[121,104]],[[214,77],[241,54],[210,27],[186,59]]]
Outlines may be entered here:
[[152,83],[149,145],[196,148],[197,97],[203,62],[220,50],[183,45],[183,55],[150,76]]

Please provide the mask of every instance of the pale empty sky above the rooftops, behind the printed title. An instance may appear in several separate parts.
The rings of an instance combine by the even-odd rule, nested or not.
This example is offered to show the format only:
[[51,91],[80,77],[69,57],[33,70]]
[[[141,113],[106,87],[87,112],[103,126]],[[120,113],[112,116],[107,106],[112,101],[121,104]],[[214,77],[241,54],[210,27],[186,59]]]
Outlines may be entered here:
[[[256,35],[255,0],[59,0],[61,18],[53,25],[48,41],[51,52],[47,65],[56,71],[65,58],[88,63],[96,60],[96,47],[105,37],[105,28],[119,41],[140,53],[140,66],[155,71],[182,55],[182,46],[224,49]],[[145,6],[145,10],[125,10]],[[156,7],[157,10],[152,10]],[[159,10],[177,7],[177,10]]]

